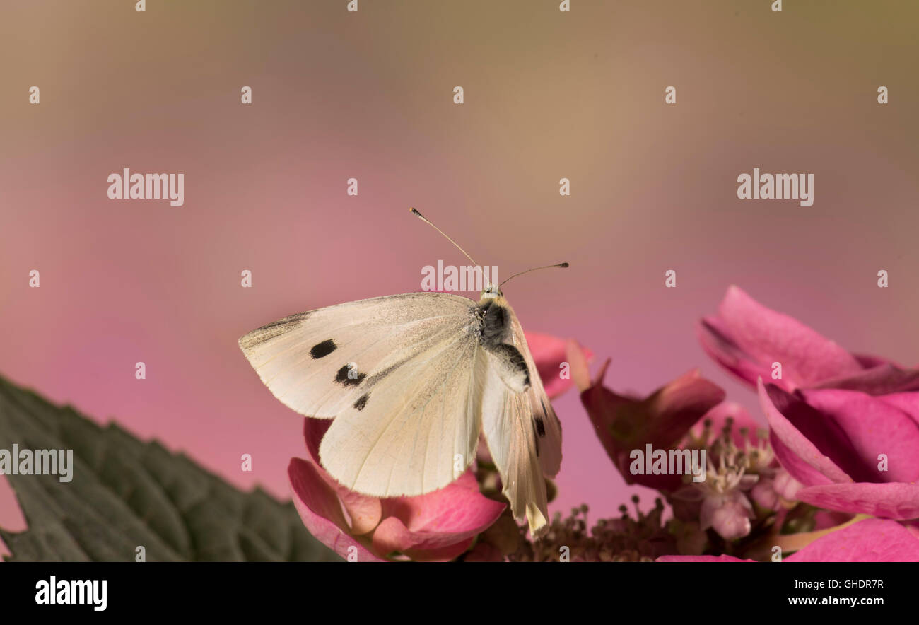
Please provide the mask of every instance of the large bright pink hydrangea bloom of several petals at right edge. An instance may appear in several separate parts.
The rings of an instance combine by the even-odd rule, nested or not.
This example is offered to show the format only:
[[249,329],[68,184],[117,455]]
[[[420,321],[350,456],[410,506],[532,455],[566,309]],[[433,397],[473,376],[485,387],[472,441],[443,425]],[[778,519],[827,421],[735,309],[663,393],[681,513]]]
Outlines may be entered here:
[[829,510],[919,517],[919,369],[850,354],[737,287],[702,321],[699,338],[720,365],[758,384],[770,443],[788,472],[777,474],[777,489]]

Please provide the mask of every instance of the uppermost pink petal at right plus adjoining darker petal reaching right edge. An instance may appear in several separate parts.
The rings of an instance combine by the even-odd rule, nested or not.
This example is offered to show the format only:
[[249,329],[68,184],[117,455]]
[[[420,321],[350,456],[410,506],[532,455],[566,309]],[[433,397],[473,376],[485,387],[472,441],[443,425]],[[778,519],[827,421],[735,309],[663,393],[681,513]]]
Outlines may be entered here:
[[[698,336],[711,358],[751,386],[763,378],[786,391],[835,388],[872,395],[919,391],[919,369],[851,354],[734,286],[725,294],[718,314],[699,324]],[[781,379],[772,379],[773,363],[781,364]]]

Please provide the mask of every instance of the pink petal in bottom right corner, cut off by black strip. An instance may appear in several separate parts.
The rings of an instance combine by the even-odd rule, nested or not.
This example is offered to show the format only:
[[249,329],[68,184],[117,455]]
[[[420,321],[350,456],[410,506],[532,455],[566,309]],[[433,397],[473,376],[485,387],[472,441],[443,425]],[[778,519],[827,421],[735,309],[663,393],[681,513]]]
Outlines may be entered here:
[[866,518],[814,540],[785,562],[917,562],[919,540],[896,521]]

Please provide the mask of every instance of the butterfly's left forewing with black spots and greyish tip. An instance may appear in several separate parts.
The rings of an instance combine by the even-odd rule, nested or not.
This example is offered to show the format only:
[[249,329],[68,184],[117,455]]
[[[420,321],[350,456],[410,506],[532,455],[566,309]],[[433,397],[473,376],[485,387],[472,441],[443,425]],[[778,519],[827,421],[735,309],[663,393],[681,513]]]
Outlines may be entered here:
[[285,317],[239,344],[278,400],[331,418],[425,350],[461,336],[475,324],[474,307],[448,293],[350,301]]

